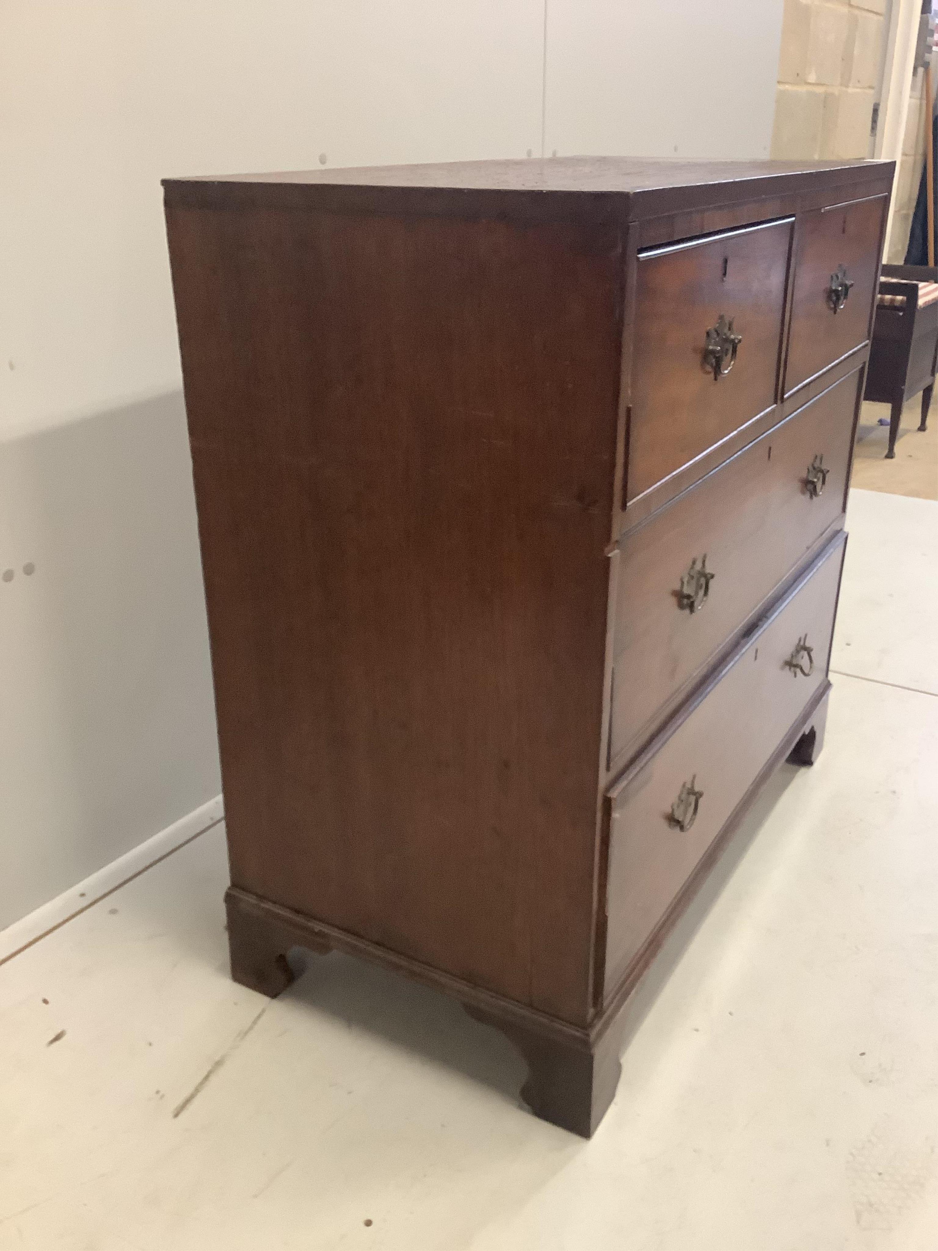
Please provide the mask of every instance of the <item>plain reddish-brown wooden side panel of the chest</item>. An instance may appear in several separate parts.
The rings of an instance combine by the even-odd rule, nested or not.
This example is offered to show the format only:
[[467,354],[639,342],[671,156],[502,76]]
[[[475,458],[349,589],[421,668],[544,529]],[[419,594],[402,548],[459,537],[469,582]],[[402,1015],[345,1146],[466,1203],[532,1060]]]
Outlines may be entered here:
[[168,221],[234,883],[583,1020],[618,228]]

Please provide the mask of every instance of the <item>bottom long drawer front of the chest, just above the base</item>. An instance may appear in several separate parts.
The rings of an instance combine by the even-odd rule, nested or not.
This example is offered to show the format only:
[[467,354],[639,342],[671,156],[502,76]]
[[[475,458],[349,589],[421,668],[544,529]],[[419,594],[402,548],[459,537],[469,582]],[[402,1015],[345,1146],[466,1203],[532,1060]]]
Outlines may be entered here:
[[[609,793],[607,992],[825,683],[843,549],[840,534],[652,759]],[[813,668],[795,656],[803,639]],[[809,676],[787,667],[793,657]],[[699,798],[682,797],[685,787]]]

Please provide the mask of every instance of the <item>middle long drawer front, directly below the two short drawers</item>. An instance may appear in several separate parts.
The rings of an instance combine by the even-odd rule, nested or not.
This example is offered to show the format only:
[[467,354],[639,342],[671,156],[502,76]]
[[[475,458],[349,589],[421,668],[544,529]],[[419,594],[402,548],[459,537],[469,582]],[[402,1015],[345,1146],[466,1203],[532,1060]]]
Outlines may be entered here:
[[[859,382],[848,374],[623,538],[610,759],[642,746],[840,514]],[[712,579],[692,574],[704,564]]]

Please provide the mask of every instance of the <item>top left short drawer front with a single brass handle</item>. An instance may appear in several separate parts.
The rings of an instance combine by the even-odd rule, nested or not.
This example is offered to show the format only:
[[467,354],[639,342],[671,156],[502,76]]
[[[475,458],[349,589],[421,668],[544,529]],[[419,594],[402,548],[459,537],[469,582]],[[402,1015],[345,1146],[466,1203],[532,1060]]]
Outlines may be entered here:
[[[639,253],[627,500],[774,403],[790,236],[787,218]],[[708,364],[720,318],[742,339]]]

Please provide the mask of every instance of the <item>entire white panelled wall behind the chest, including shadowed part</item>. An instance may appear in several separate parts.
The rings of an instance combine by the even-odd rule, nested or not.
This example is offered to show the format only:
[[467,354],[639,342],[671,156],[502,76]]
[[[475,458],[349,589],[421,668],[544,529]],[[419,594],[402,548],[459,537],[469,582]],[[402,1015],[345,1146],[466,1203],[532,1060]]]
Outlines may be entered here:
[[159,179],[765,155],[780,21],[782,0],[0,0],[0,927],[219,786]]

